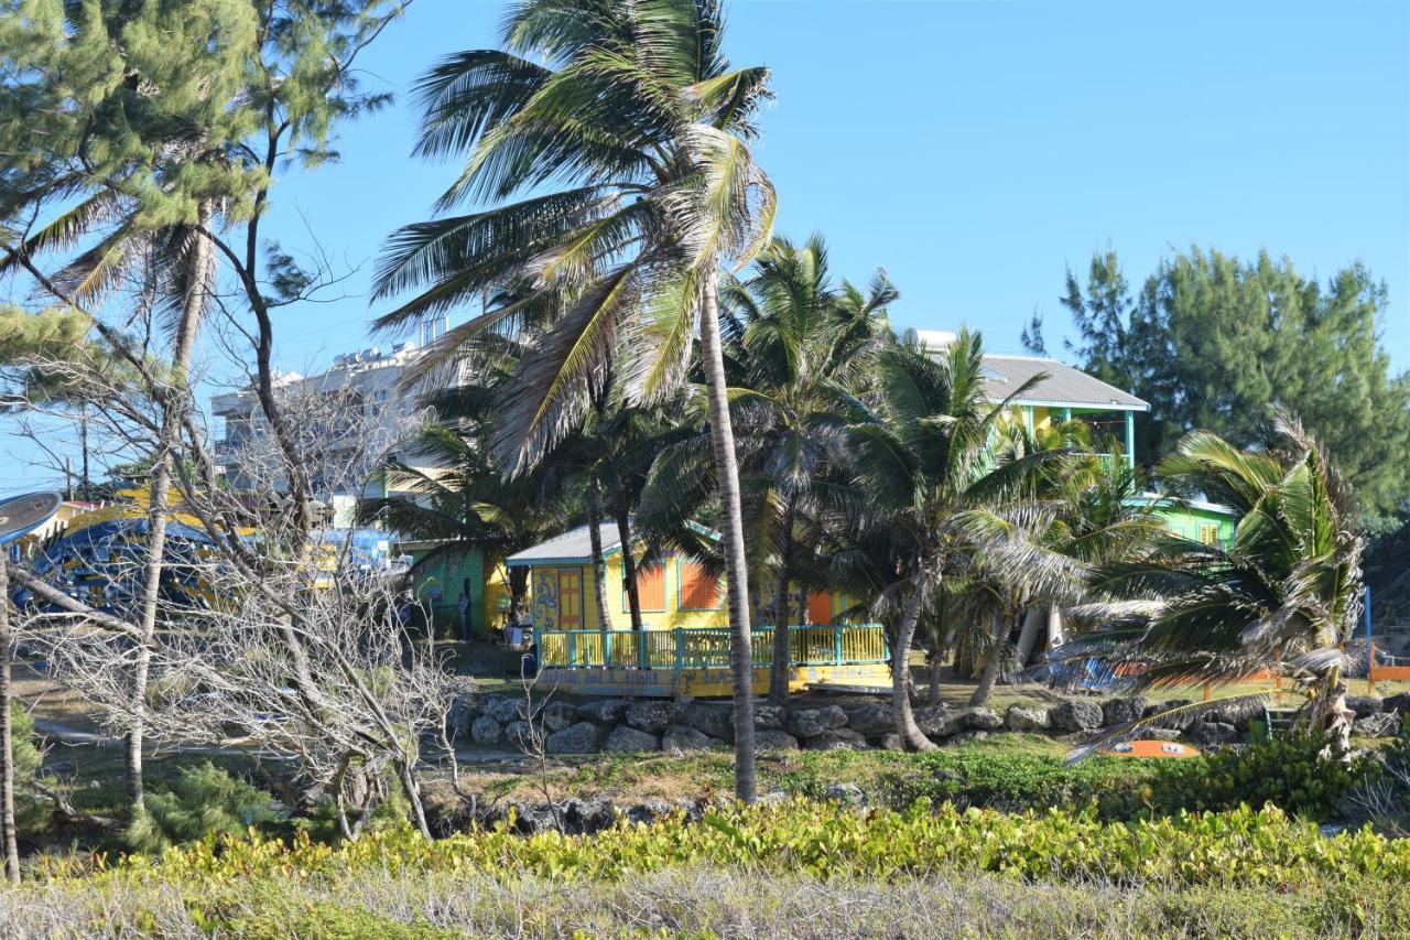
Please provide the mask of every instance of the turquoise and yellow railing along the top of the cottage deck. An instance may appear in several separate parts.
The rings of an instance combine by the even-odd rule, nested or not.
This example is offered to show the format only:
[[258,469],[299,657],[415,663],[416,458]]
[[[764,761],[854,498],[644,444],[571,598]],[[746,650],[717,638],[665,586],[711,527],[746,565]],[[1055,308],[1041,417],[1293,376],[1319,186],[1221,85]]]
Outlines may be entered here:
[[[752,631],[756,669],[773,665],[773,627]],[[675,627],[671,629],[539,629],[534,631],[541,669],[728,669],[729,628]],[[881,624],[788,627],[792,666],[854,666],[891,661]]]

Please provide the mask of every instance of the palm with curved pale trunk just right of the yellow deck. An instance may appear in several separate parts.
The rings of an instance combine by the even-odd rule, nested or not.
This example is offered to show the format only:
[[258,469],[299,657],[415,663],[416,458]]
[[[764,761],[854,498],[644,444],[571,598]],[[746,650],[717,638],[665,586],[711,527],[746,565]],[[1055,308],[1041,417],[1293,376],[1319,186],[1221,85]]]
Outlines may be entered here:
[[[902,744],[935,745],[915,724],[909,655],[915,627],[948,579],[976,563],[1028,572],[1035,591],[1067,576],[1050,553],[1025,538],[1041,518],[1022,500],[1024,483],[1059,452],[1015,456],[995,447],[1012,398],[993,404],[984,392],[979,335],[962,330],[938,360],[908,347],[884,351],[876,366],[881,399],[874,415],[850,430],[857,486],[866,494],[862,538],[870,545],[849,559],[874,570],[883,607],[898,610],[891,649],[891,707]],[[1036,381],[1036,380],[1034,380]]]

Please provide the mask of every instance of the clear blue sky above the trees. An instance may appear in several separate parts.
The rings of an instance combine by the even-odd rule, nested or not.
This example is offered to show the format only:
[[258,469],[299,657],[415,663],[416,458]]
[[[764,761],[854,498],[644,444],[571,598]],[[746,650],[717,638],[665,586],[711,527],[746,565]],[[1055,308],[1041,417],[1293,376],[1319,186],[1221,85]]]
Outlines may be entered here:
[[[1308,275],[1365,261],[1383,344],[1410,368],[1410,4],[735,0],[726,49],[768,65],[756,157],[778,230],[822,231],[836,275],[884,265],[898,327],[981,327],[1018,351],[1038,311],[1069,327],[1067,265],[1111,247],[1139,281],[1191,244],[1286,254]],[[306,371],[371,344],[372,261],[429,217],[455,167],[410,158],[407,89],[437,56],[494,45],[499,0],[415,0],[361,59],[386,112],[343,161],[285,176],[266,233],[340,267],[340,299],[281,313]],[[385,344],[385,340],[381,340]],[[13,439],[11,439],[13,442]],[[0,486],[17,486],[11,464]]]

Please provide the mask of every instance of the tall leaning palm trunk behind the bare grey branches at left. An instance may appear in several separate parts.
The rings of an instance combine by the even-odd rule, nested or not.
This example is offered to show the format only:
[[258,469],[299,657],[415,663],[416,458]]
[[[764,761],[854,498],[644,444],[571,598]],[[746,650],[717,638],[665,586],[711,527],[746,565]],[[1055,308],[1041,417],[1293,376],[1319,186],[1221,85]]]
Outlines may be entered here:
[[[212,203],[200,203],[197,212],[200,230],[209,230],[210,220],[214,216]],[[200,330],[202,313],[206,309],[206,288],[214,265],[214,248],[210,241],[199,233],[193,234],[193,239],[190,257],[188,258],[190,270],[186,272],[186,298],[182,303],[180,322],[176,325],[176,340],[172,349],[171,382],[158,395],[161,426],[157,438],[157,459],[152,463],[152,481],[148,491],[145,582],[142,584],[141,617],[138,622],[142,638],[141,648],[137,651],[137,666],[133,670],[133,713],[128,718],[131,725],[127,733],[125,755],[127,799],[134,810],[140,809],[144,802],[142,721],[147,710],[147,679],[152,663],[152,639],[157,635],[157,605],[161,600],[162,567],[166,553],[166,510],[171,497],[172,467],[182,418],[190,406],[186,374],[190,370],[196,333]]]

